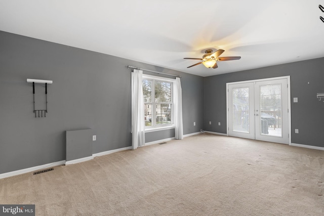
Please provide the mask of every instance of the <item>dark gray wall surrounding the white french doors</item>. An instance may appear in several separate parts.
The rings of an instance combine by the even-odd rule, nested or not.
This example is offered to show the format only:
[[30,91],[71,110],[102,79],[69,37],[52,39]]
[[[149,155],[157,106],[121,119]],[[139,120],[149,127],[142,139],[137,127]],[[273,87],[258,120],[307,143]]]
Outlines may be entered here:
[[[324,103],[316,98],[316,93],[324,92],[324,58],[205,77],[205,130],[227,133],[227,82],[287,75],[291,77],[292,143],[324,147]],[[296,97],[298,103],[293,103]]]

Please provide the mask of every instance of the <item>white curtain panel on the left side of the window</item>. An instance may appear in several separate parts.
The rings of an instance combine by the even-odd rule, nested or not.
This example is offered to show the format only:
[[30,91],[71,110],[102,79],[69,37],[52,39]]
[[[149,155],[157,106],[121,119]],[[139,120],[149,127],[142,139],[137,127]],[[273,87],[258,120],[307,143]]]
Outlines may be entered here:
[[142,85],[143,71],[134,69],[132,73],[132,147],[145,145],[144,99]]

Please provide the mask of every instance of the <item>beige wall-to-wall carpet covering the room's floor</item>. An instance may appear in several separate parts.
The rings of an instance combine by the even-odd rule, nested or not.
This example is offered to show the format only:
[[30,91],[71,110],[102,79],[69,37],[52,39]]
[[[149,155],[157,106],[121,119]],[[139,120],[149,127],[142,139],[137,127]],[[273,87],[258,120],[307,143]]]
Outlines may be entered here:
[[0,180],[36,215],[324,215],[324,151],[201,134]]

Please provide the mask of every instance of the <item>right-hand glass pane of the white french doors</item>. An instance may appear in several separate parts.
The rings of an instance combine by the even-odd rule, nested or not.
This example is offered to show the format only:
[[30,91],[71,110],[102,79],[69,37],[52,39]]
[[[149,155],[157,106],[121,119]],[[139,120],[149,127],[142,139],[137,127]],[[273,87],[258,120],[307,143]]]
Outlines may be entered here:
[[260,86],[260,133],[282,137],[281,84]]

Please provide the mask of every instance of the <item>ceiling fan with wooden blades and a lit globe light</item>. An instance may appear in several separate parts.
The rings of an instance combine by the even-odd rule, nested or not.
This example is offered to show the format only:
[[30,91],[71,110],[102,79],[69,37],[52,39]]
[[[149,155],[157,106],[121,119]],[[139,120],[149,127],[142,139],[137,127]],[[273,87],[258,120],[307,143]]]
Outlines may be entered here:
[[[217,68],[217,61],[229,61],[229,60],[238,60],[241,57],[219,57],[222,53],[224,53],[225,50],[217,50],[213,53],[213,50],[206,50],[202,59],[199,58],[184,58],[184,59],[193,59],[193,60],[201,60],[201,62],[198,62],[197,64],[191,65],[189,67],[193,67],[196,65],[199,65],[203,63],[205,67],[208,68]],[[187,67],[187,68],[189,68]]]

